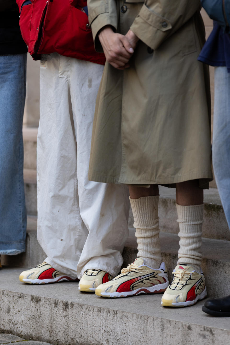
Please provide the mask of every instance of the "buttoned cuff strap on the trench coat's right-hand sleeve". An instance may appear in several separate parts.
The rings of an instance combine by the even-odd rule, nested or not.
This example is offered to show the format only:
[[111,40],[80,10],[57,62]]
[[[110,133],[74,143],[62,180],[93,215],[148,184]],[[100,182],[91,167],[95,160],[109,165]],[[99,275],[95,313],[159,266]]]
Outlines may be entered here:
[[146,5],[142,6],[142,8],[139,12],[139,16],[143,20],[145,20],[148,24],[150,24],[154,28],[157,28],[161,31],[168,31],[168,30],[172,29],[172,25],[167,18],[160,16],[156,12],[153,12]]

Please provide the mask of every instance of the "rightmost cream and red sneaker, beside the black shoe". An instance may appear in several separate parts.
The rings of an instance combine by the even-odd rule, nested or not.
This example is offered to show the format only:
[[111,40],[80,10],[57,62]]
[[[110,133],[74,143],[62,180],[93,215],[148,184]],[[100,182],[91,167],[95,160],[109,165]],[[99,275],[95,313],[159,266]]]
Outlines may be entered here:
[[172,283],[161,299],[164,307],[188,307],[207,296],[203,272],[192,266],[179,264],[172,272]]

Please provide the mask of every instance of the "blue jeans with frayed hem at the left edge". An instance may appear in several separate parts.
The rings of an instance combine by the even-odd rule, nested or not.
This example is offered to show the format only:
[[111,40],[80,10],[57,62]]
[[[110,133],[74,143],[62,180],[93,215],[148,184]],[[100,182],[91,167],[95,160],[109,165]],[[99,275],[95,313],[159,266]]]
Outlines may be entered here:
[[26,249],[22,120],[27,54],[0,55],[0,254]]

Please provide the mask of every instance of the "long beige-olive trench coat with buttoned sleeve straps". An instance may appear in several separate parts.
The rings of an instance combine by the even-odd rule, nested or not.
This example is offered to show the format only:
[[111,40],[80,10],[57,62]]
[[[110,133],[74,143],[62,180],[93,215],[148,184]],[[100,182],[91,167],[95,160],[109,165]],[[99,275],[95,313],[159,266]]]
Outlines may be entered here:
[[212,179],[208,67],[199,0],[88,0],[95,48],[110,24],[140,41],[124,71],[104,68],[94,116],[89,179],[174,186]]

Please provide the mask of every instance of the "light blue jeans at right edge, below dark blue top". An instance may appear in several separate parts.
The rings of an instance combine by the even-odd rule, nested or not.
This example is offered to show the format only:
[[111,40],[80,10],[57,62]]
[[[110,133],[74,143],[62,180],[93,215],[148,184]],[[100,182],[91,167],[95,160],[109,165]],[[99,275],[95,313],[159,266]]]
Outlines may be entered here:
[[215,67],[212,160],[217,188],[230,228],[230,73]]

